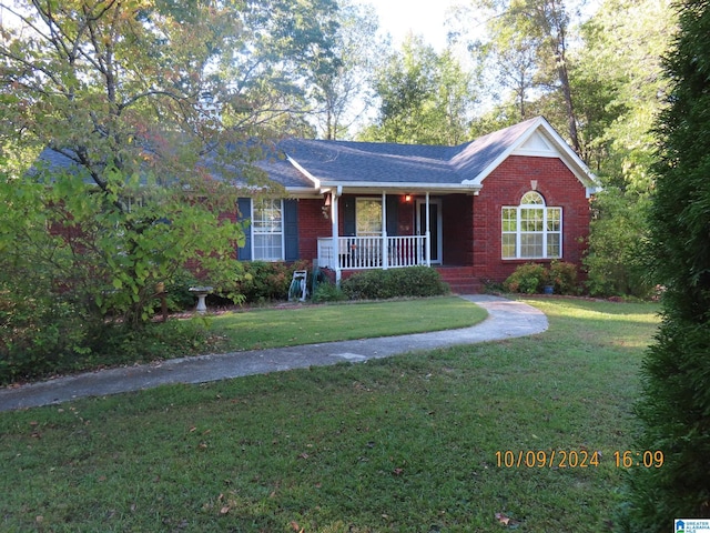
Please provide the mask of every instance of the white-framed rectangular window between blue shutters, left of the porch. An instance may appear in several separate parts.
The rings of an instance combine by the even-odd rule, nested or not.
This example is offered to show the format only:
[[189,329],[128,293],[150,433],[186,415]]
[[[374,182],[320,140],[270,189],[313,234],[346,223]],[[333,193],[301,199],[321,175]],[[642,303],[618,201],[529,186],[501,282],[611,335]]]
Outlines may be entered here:
[[253,254],[257,261],[284,259],[284,205],[282,200],[254,200],[252,208]]

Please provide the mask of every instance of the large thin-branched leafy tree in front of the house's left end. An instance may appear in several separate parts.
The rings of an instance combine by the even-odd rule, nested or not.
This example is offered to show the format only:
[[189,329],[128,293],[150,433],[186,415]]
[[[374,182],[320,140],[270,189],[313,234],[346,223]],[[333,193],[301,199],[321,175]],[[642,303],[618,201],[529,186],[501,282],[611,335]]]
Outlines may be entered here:
[[[318,10],[333,2],[2,7],[0,144],[51,148],[72,165],[32,173],[51,184],[47,223],[80,230],[64,243],[73,262],[62,275],[84,272],[94,305],[140,326],[155,284],[189,259],[201,255],[213,280],[233,269],[243,232],[219,213],[235,210],[237,177],[266,185],[248,165],[260,148],[244,140],[273,133],[311,82],[300,66],[331,56],[334,27]],[[9,242],[3,252],[18,249]]]

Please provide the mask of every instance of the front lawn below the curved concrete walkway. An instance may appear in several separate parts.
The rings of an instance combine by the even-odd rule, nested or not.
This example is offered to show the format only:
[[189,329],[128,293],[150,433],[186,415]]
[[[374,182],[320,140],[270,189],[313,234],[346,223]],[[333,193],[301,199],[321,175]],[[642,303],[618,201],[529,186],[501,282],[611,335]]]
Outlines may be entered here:
[[0,413],[0,530],[609,531],[657,308],[528,302],[540,335]]

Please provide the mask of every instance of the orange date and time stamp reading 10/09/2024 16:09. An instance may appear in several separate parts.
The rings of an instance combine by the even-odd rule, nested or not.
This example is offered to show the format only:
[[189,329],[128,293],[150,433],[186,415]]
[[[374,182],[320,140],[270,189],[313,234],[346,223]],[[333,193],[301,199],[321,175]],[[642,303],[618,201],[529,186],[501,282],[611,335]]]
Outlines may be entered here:
[[[615,451],[611,454],[617,469],[641,466],[660,469],[663,465],[663,452],[646,450],[632,452],[630,450]],[[587,450],[511,450],[496,452],[496,465],[501,469],[587,469],[601,464],[601,452]]]

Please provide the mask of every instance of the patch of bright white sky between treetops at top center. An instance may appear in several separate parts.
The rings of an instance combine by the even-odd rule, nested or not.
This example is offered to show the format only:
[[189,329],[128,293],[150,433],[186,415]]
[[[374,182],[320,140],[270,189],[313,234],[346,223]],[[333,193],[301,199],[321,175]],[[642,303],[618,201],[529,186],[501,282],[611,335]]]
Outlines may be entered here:
[[446,10],[460,0],[364,0],[377,10],[379,28],[393,38],[395,48],[412,31],[423,34],[437,50],[446,47]]

